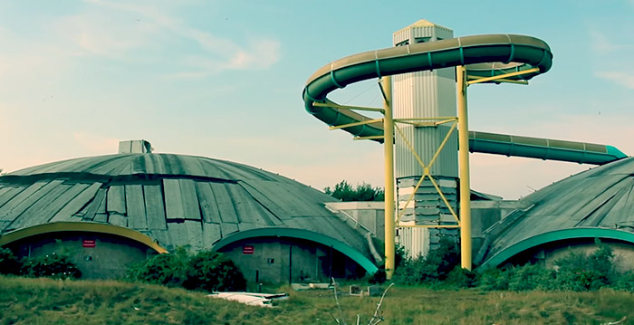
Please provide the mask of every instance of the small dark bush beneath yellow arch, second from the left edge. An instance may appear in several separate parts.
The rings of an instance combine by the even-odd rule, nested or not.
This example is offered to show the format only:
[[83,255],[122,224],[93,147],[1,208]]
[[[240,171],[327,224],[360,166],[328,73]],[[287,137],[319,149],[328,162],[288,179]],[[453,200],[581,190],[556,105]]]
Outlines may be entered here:
[[22,274],[28,277],[50,277],[54,279],[78,279],[82,272],[64,253],[51,253],[26,259],[22,265]]

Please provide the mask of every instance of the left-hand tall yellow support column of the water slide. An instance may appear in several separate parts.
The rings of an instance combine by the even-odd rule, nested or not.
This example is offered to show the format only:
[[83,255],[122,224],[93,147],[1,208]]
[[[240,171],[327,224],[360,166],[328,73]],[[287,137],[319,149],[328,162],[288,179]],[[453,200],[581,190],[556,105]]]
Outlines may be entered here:
[[394,275],[394,120],[392,119],[392,78],[383,77],[383,133],[385,154],[385,271],[388,280]]

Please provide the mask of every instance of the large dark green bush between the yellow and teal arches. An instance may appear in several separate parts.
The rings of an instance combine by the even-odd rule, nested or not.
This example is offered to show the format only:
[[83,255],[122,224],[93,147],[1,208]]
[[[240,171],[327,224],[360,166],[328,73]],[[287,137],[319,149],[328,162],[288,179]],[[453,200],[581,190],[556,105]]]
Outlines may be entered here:
[[181,286],[189,290],[244,291],[246,280],[224,254],[203,251],[194,255],[179,247],[175,253],[156,255],[128,270],[133,281]]

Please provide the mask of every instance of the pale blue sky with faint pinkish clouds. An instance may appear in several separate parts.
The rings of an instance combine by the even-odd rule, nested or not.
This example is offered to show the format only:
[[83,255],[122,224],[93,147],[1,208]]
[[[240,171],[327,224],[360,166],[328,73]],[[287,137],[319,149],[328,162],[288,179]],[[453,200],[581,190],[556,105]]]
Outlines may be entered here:
[[[391,46],[419,19],[455,36],[543,39],[550,72],[473,85],[469,129],[612,145],[634,154],[634,0],[0,0],[0,168],[116,153],[261,167],[322,189],[383,186],[383,148],[303,109],[313,72]],[[381,105],[376,81],[332,94]],[[472,188],[515,199],[590,165],[472,154]]]

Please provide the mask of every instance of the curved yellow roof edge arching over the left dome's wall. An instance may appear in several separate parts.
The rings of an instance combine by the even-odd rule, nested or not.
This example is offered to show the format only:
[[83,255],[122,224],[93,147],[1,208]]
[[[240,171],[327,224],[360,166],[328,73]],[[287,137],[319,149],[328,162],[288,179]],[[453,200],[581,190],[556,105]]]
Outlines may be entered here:
[[0,235],[0,246],[13,243],[26,237],[37,234],[59,233],[59,232],[92,232],[100,234],[114,234],[128,238],[140,244],[145,244],[154,249],[157,253],[168,253],[168,250],[154,242],[147,234],[139,233],[130,228],[118,225],[106,225],[90,222],[54,222],[43,225],[33,225],[30,227],[14,230],[13,232]]

